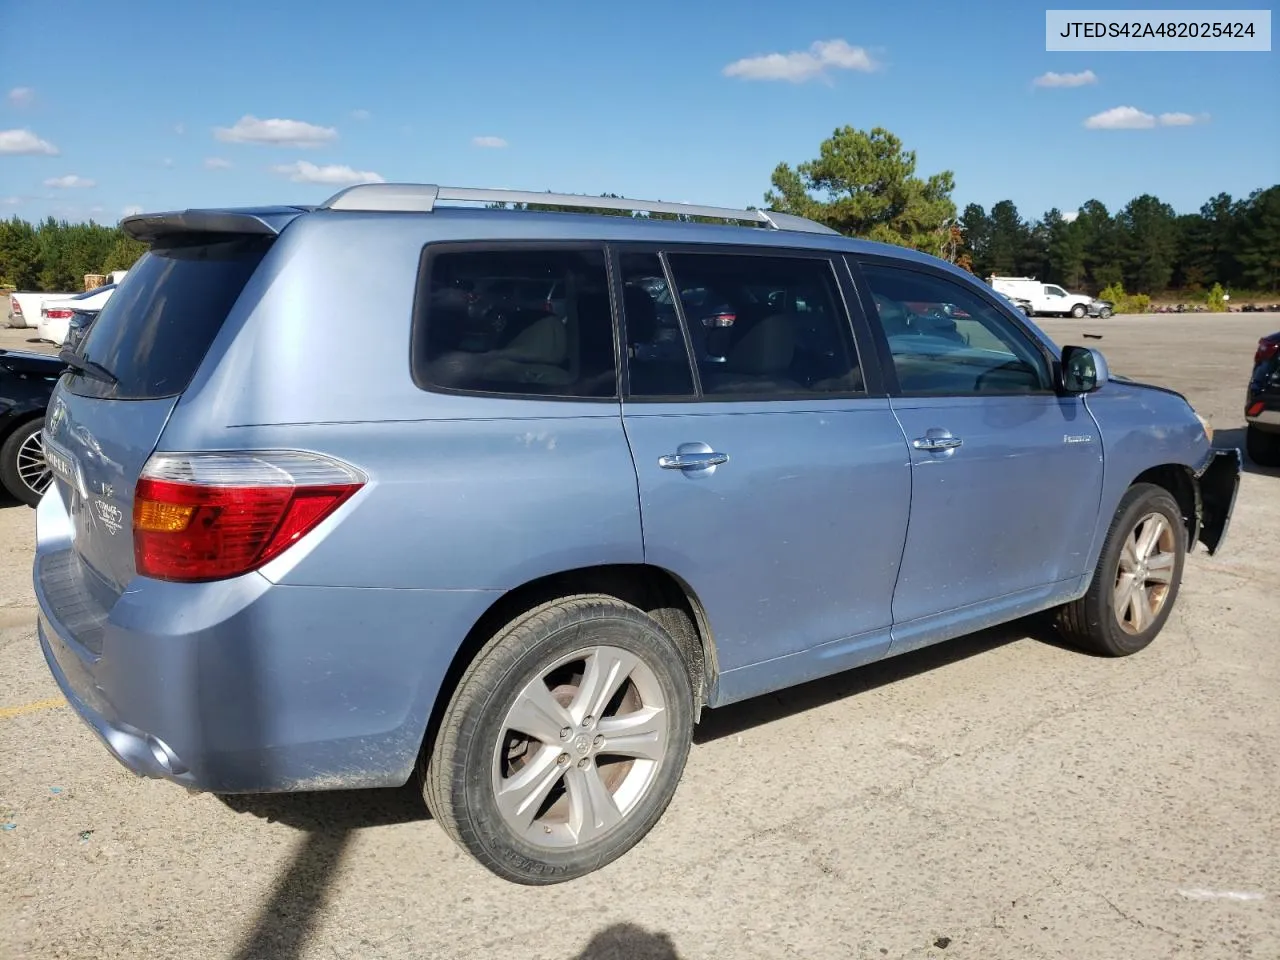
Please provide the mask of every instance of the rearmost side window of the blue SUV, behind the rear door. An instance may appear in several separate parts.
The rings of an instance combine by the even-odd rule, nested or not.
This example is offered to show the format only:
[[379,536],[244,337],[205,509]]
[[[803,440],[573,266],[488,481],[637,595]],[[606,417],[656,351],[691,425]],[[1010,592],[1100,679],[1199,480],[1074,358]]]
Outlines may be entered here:
[[440,252],[428,271],[413,334],[419,385],[617,396],[603,251]]

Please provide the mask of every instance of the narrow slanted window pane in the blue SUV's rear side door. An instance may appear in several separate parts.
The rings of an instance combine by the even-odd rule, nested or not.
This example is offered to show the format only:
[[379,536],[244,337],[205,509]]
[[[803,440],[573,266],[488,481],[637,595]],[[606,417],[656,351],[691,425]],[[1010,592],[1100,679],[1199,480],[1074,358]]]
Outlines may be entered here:
[[657,253],[623,253],[621,264],[627,394],[694,396],[689,348],[662,261]]

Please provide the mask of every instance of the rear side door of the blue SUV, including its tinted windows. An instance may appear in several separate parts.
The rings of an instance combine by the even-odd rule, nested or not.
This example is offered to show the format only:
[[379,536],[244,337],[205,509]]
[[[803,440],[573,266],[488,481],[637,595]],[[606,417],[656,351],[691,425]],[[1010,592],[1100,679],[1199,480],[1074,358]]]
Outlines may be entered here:
[[[617,256],[645,559],[703,602],[722,699],[878,658],[910,477],[877,369],[859,362],[847,273],[790,250]],[[727,301],[717,316],[732,316],[701,332],[722,335],[709,352],[689,329],[700,303],[673,298],[681,338],[662,324],[666,291],[705,289]]]

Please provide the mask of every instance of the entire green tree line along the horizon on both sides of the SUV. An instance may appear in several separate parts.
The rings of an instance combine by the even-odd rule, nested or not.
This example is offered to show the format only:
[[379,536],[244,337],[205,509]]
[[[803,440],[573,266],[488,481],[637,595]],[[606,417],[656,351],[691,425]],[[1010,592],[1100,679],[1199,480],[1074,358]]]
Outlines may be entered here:
[[[822,142],[815,159],[774,168],[764,209],[805,216],[845,236],[933,253],[983,278],[1036,276],[1093,294],[1280,291],[1280,184],[1240,198],[1220,193],[1194,214],[1178,214],[1149,193],[1115,214],[1091,200],[1071,219],[1057,209],[1024,218],[1011,200],[989,212],[969,204],[957,214],[954,191],[950,170],[918,175],[915,151],[890,131],[841,127]],[[556,204],[513,206],[704,219]],[[50,218],[32,225],[13,218],[0,221],[0,285],[79,289],[84,274],[128,269],[145,248],[119,228],[92,221]]]

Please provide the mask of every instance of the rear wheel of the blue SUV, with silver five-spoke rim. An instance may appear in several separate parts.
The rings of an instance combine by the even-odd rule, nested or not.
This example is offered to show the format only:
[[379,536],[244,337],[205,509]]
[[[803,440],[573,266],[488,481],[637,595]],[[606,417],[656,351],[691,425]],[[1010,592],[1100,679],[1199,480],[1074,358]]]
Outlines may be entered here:
[[603,595],[543,604],[463,673],[424,764],[426,804],[504,879],[591,873],[671,803],[692,701],[675,640],[636,607]]

